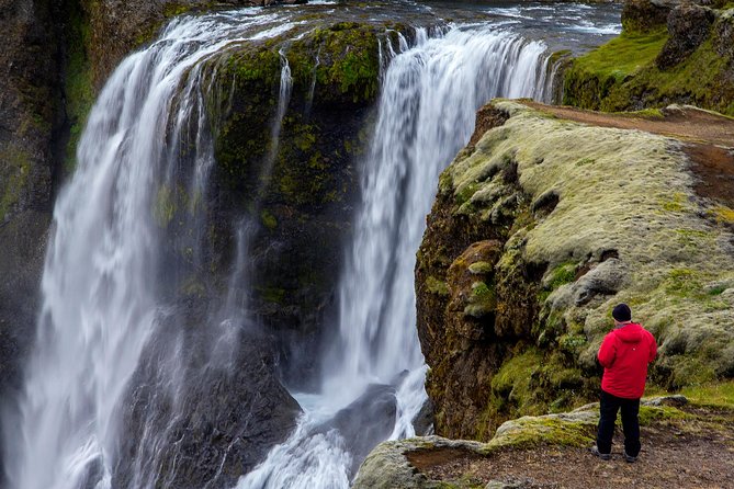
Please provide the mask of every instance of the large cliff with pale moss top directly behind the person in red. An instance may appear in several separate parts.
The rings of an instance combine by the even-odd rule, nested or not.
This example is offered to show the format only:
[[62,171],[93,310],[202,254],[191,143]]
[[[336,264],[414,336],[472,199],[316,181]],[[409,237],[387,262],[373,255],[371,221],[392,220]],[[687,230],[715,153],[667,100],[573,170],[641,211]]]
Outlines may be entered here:
[[[416,269],[437,433],[488,440],[509,417],[594,397],[619,302],[660,344],[658,385],[734,375],[731,171],[709,192],[705,169],[731,162],[715,145],[734,128],[695,110],[651,116],[504,101],[479,112],[441,175]],[[611,128],[675,133],[686,120],[711,134]]]

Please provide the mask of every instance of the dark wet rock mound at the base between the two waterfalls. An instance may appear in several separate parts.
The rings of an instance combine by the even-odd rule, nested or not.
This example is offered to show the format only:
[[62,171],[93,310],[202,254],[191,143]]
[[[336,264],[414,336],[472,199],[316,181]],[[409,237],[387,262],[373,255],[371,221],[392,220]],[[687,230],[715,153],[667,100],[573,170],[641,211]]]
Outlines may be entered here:
[[179,331],[157,338],[131,382],[115,487],[234,487],[295,428],[272,340],[244,336],[233,359],[217,359],[204,332]]

